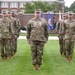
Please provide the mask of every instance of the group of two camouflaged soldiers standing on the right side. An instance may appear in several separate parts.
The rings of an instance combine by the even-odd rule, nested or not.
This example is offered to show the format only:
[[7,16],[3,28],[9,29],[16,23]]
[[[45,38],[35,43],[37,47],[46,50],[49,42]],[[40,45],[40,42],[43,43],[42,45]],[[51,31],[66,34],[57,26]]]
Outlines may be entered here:
[[64,54],[67,61],[71,62],[75,40],[75,20],[72,11],[63,14],[62,20],[57,22],[56,30],[59,37],[60,54]]

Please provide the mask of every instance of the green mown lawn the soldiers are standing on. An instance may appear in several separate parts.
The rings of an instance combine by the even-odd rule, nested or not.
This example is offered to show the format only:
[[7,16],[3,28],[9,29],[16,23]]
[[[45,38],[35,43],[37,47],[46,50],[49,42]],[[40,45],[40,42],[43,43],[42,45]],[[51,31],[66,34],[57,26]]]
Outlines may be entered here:
[[0,58],[0,75],[75,75],[75,54],[68,63],[60,56],[58,41],[50,40],[45,45],[42,70],[34,71],[30,46],[26,40],[18,41],[16,56],[3,62]]

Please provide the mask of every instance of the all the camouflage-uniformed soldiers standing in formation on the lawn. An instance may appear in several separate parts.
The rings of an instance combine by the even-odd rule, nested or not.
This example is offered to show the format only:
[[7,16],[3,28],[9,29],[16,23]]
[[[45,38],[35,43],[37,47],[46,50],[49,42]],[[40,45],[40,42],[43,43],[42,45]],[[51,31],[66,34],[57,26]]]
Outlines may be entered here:
[[[60,54],[71,62],[74,52],[75,20],[73,12],[62,15],[57,22],[56,30],[59,37]],[[4,61],[17,52],[17,38],[20,34],[20,22],[14,13],[3,13],[0,19],[0,55]],[[31,47],[32,64],[34,70],[40,70],[42,65],[43,49],[48,41],[48,23],[41,18],[41,10],[34,12],[34,18],[28,21],[27,41]]]

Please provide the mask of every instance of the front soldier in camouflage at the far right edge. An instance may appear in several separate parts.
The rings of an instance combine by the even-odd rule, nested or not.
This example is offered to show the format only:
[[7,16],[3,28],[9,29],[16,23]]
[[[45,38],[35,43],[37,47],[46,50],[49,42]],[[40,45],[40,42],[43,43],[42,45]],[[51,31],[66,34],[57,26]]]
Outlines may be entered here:
[[75,40],[75,20],[73,19],[73,12],[68,12],[68,19],[65,20],[65,50],[66,58],[71,62],[74,51],[74,40]]

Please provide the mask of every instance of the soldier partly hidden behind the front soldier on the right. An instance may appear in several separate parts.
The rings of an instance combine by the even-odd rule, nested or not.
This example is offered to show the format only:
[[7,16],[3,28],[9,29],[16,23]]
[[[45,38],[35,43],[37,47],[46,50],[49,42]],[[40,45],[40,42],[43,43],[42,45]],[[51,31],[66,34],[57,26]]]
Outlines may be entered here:
[[64,20],[66,19],[66,15],[63,14],[62,15],[62,20],[61,21],[58,21],[57,22],[57,27],[56,27],[56,30],[57,30],[57,34],[58,34],[58,38],[59,38],[59,45],[60,45],[60,54],[65,54],[65,41],[63,40],[63,37],[64,37]]

